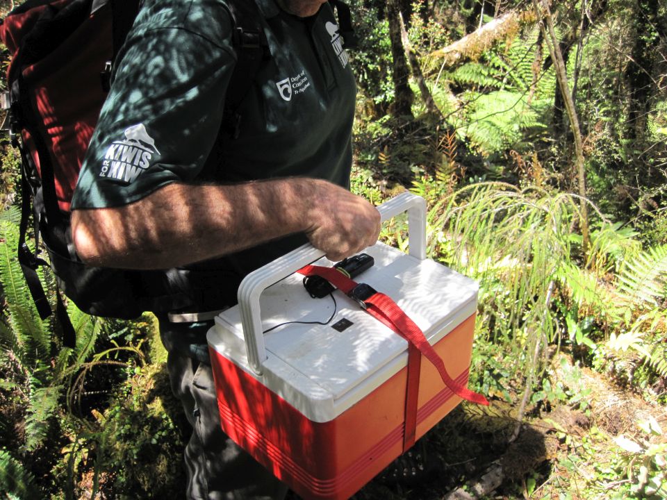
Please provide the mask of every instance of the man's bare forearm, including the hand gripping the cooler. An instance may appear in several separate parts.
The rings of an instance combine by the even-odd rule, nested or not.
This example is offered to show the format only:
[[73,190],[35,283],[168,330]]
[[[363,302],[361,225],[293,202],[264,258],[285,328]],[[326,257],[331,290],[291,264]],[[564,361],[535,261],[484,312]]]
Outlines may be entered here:
[[374,209],[364,205],[342,188],[308,178],[175,183],[120,208],[74,210],[72,234],[86,263],[126,269],[186,265],[301,231],[330,257],[342,258],[377,238]]

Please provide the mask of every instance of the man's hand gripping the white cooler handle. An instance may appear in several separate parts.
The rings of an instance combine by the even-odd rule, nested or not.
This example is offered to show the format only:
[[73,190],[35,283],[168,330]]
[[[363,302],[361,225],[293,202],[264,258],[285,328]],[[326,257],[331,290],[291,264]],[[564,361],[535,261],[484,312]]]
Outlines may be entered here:
[[313,247],[336,262],[377,242],[380,214],[374,206],[330,183],[318,188],[320,201],[308,211],[312,224],[306,231]]

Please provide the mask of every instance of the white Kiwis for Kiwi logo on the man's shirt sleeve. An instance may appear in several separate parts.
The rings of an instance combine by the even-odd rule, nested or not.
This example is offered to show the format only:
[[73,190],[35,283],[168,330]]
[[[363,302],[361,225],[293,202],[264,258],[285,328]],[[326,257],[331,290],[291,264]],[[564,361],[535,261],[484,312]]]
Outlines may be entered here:
[[153,155],[159,155],[160,151],[144,124],[130,126],[124,134],[124,140],[114,141],[106,149],[99,176],[129,184],[151,165]]

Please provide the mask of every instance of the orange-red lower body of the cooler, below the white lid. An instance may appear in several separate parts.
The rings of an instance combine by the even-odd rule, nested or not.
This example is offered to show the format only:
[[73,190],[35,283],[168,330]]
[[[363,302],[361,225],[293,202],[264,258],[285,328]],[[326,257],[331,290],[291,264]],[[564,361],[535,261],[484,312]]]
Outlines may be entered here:
[[[434,348],[466,385],[475,317]],[[314,422],[222,354],[212,353],[225,433],[304,499],[347,499],[403,453],[407,367],[329,422]],[[417,434],[461,402],[422,362]]]

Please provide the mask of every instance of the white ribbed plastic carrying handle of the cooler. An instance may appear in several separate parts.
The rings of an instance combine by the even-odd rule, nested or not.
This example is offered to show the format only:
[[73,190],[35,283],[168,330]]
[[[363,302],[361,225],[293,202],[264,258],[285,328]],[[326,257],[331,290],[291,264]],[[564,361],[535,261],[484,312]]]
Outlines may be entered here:
[[[408,213],[410,235],[409,254],[419,260],[426,258],[426,201],[408,192],[382,203],[377,207],[382,222],[401,213]],[[253,372],[262,374],[266,359],[264,334],[259,308],[259,297],[265,288],[324,256],[324,252],[310,243],[302,245],[271,263],[254,270],[243,278],[238,288],[238,306],[241,312],[243,337],[248,363]]]

